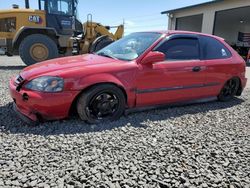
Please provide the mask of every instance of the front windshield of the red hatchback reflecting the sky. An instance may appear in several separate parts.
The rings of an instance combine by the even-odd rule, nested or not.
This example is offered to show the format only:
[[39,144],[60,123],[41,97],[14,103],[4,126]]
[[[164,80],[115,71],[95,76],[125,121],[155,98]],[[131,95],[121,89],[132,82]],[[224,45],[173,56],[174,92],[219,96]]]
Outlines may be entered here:
[[108,45],[96,54],[131,61],[143,54],[160,36],[160,33],[132,33]]

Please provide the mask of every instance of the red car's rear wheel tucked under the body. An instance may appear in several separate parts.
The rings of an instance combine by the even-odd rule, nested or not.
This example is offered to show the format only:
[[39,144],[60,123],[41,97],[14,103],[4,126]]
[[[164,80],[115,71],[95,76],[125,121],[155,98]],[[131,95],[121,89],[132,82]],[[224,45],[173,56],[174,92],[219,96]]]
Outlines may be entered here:
[[219,101],[227,102],[233,99],[234,96],[237,94],[239,87],[240,80],[238,78],[232,78],[228,80],[221,89],[220,94],[218,95]]

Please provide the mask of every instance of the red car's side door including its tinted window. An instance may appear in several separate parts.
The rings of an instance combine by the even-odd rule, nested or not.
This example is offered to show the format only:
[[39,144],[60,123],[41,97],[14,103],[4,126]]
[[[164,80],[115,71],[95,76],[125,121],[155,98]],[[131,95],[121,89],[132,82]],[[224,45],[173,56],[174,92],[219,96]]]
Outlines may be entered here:
[[163,52],[165,61],[141,65],[137,78],[137,106],[174,103],[204,95],[204,61],[196,35],[173,35],[154,51]]

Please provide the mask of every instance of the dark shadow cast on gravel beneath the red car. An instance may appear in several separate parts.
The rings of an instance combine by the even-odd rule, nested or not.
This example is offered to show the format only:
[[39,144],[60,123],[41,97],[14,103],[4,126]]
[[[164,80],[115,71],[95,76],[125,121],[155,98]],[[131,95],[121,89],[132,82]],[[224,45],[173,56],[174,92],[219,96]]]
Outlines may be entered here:
[[184,106],[166,106],[160,109],[146,110],[143,112],[134,112],[121,117],[118,121],[107,122],[105,124],[88,125],[81,121],[78,116],[71,117],[68,120],[46,122],[38,126],[27,126],[17,118],[12,110],[12,103],[0,107],[0,132],[11,134],[34,134],[41,136],[59,135],[59,134],[83,134],[90,132],[101,132],[112,130],[123,126],[135,128],[147,128],[147,121],[164,121],[188,114],[206,113],[208,111],[231,108],[239,105],[244,100],[235,98],[230,102],[204,102],[198,104],[186,104]]

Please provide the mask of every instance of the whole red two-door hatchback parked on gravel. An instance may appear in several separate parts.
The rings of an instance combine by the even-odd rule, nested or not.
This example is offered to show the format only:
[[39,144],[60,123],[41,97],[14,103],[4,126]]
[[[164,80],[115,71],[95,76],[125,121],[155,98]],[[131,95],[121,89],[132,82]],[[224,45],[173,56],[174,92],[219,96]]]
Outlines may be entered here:
[[194,32],[138,32],[94,54],[49,60],[10,81],[14,109],[26,122],[118,119],[138,107],[217,97],[246,86],[245,61],[222,38]]

